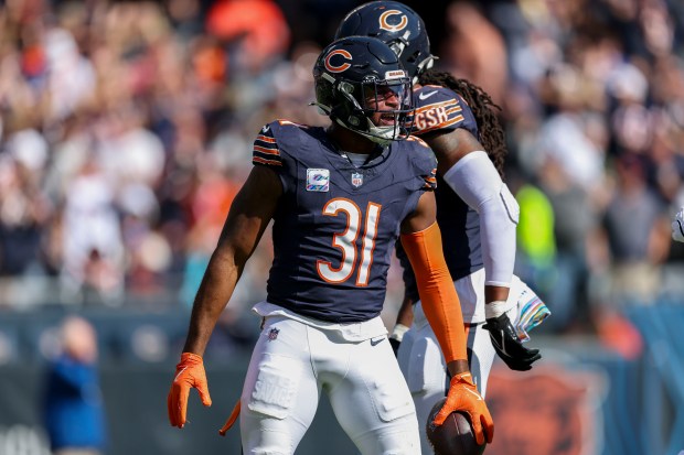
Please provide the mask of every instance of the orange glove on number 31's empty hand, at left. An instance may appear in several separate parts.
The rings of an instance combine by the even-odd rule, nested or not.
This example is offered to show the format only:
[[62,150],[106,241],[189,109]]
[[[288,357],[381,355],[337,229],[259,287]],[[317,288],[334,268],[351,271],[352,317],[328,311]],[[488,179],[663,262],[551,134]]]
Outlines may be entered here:
[[171,426],[178,426],[179,429],[185,426],[188,396],[192,388],[197,389],[197,392],[200,392],[202,404],[205,407],[212,405],[202,357],[192,353],[183,353],[181,354],[181,361],[175,366],[175,378],[173,378],[171,390],[167,398]]

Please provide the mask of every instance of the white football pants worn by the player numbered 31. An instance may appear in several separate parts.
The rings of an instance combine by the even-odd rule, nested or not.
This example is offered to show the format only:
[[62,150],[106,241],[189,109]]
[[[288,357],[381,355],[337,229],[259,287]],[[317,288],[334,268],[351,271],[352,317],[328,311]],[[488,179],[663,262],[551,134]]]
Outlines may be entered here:
[[331,325],[344,326],[345,336],[302,318],[265,318],[241,397],[245,455],[293,454],[321,390],[363,455],[420,454],[414,402],[386,334],[349,340],[356,325],[363,332],[368,323]]

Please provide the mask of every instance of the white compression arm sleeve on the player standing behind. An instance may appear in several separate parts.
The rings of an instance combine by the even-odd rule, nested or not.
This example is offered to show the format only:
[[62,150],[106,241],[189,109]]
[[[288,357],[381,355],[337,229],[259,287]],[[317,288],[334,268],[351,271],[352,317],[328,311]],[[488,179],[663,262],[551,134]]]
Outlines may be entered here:
[[480,215],[484,284],[510,286],[515,264],[520,207],[485,152],[470,152],[443,175],[445,182]]

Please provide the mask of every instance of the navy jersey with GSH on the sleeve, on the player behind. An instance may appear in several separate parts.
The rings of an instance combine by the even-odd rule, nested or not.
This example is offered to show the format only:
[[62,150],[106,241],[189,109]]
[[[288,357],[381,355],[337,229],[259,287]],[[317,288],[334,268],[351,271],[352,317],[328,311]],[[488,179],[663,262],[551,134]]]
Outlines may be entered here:
[[[478,123],[468,104],[450,88],[428,85],[414,90],[414,134],[453,131],[462,128],[479,138]],[[480,215],[470,208],[438,175],[437,223],[441,230],[445,259],[453,280],[484,267],[480,243]],[[397,257],[404,268],[406,293],[418,300],[418,288],[404,251]]]

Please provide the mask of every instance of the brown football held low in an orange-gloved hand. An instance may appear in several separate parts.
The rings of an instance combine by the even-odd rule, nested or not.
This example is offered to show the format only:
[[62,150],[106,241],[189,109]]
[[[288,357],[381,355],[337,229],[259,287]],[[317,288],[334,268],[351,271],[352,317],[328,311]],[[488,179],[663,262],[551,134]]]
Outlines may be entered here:
[[434,425],[432,420],[447,401],[442,398],[432,407],[427,421],[427,436],[432,445],[435,455],[480,455],[487,443],[478,445],[467,414],[452,412],[440,426]]

